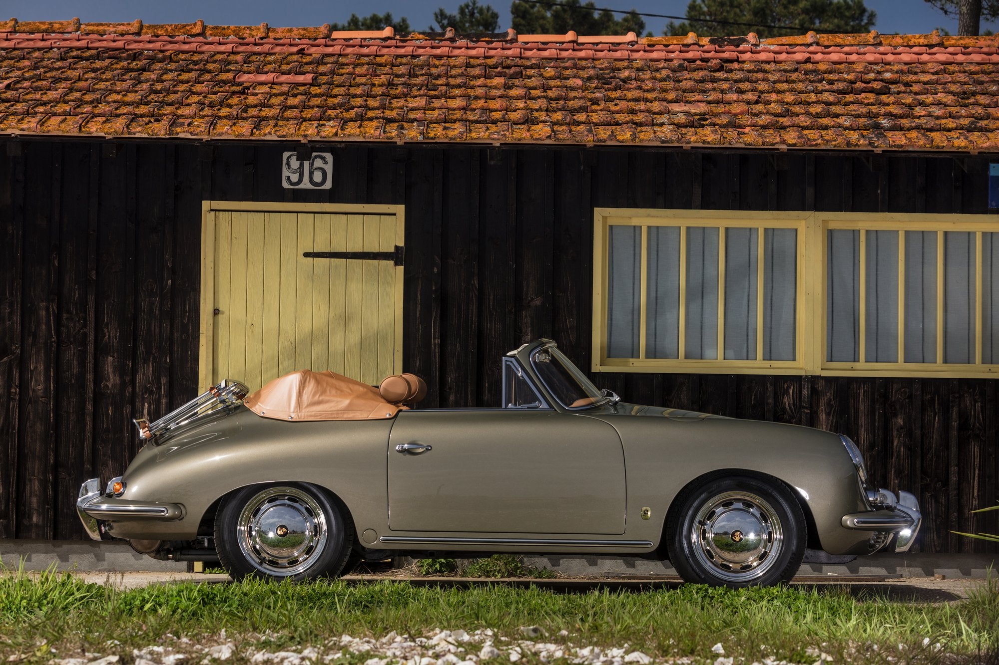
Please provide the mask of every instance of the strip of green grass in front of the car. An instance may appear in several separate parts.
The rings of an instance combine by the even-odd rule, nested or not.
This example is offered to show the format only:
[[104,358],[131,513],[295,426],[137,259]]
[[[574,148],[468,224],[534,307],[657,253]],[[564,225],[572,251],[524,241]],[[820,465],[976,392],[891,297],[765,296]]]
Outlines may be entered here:
[[[393,630],[416,637],[434,628],[493,628],[516,639],[527,625],[543,629],[546,641],[627,643],[650,656],[703,662],[714,661],[710,647],[717,642],[726,656],[746,663],[763,656],[812,663],[817,659],[805,654],[807,647],[820,647],[837,664],[887,663],[889,655],[906,662],[979,662],[999,651],[999,584],[991,581],[966,601],[927,604],[858,599],[844,587],[558,593],[500,585],[249,580],[121,592],[67,574],[0,577],[0,662],[17,656],[44,663],[96,652],[119,654],[124,665],[134,662],[133,648],[156,644],[168,633],[201,639],[223,629],[242,645],[266,642],[277,651],[322,645],[343,633],[378,637]],[[561,630],[567,636],[558,636]],[[108,646],[109,640],[119,644]],[[934,650],[937,642],[941,647]],[[241,655],[228,662],[244,661]]]

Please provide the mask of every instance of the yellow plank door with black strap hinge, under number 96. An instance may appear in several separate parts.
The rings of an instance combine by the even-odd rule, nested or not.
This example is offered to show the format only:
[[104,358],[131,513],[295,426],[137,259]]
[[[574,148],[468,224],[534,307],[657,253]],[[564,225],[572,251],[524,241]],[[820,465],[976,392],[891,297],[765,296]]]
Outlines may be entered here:
[[402,370],[403,268],[304,256],[391,255],[401,211],[207,209],[204,245],[202,389],[234,378],[256,390],[297,369],[377,384]]

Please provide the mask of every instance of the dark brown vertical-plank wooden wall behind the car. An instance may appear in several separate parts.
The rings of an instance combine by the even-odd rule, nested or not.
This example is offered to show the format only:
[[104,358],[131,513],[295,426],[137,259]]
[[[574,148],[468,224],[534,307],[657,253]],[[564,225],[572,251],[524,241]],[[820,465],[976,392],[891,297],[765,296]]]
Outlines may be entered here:
[[[335,145],[330,191],[280,144],[0,142],[0,538],[78,538],[80,482],[119,474],[135,413],[191,397],[205,199],[404,204],[405,364],[427,405],[496,404],[500,355],[551,336],[589,366],[594,207],[985,214],[985,158]],[[626,399],[853,437],[914,490],[922,551],[999,551],[988,379],[604,373]]]

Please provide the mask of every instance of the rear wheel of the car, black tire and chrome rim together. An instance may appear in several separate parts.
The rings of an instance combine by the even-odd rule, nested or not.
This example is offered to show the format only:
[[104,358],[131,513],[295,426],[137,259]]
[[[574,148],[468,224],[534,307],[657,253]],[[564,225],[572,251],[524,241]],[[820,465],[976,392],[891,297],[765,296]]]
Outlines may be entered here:
[[295,581],[335,577],[354,544],[354,521],[316,485],[276,482],[244,487],[219,506],[215,544],[233,579]]

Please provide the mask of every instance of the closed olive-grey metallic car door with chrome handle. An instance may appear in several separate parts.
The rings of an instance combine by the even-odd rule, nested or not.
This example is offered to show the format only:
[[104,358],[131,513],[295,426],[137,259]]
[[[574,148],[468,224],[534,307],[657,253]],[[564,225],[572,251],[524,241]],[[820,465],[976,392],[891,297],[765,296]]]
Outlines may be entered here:
[[[397,449],[408,444],[430,447]],[[401,411],[388,473],[393,531],[624,532],[620,439],[578,413]]]

